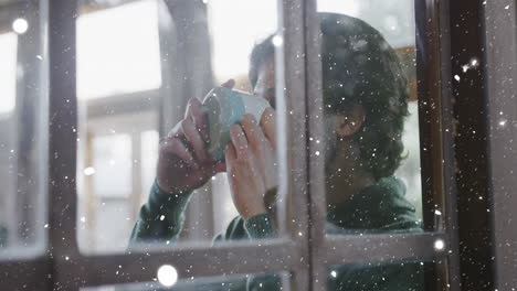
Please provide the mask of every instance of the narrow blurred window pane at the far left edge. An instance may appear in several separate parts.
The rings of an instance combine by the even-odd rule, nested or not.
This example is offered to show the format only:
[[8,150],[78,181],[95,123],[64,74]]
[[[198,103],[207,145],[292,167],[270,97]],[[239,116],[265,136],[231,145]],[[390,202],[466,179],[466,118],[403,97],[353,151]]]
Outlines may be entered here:
[[20,8],[0,6],[0,259],[42,254],[48,228],[46,19]]

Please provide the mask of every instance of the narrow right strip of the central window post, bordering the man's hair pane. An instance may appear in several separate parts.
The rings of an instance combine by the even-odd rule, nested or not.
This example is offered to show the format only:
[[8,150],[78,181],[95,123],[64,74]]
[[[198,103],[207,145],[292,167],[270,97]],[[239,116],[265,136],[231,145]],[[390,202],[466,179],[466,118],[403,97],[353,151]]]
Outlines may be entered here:
[[325,224],[327,207],[325,200],[325,140],[324,110],[323,110],[323,75],[320,57],[320,22],[317,12],[317,1],[305,1],[305,50],[307,78],[306,108],[307,108],[307,162],[309,188],[310,216],[310,257],[312,257],[312,287],[313,290],[327,289],[327,267],[325,249]]

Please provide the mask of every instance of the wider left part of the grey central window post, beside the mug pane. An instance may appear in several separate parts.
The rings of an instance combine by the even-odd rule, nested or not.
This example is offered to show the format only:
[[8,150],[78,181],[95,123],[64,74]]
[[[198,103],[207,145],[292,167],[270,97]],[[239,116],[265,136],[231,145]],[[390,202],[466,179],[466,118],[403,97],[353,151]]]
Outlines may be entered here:
[[[306,67],[305,67],[305,1],[284,0],[278,3],[277,32],[283,36],[281,53],[276,60],[276,79],[285,77],[285,88],[276,88],[277,122],[285,122],[289,133],[286,144],[279,149],[286,151],[287,157],[287,196],[292,200],[287,204],[287,227],[299,254],[298,268],[293,269],[293,290],[312,290],[310,280],[310,228],[308,209],[308,157],[307,157],[307,107],[306,107]],[[283,58],[283,60],[282,60]],[[282,68],[282,69],[279,69]],[[286,103],[284,108],[282,104]],[[282,125],[281,125],[282,126]],[[282,146],[285,146],[283,148]],[[282,169],[281,169],[282,170]],[[283,193],[279,193],[282,196]],[[292,206],[292,209],[289,208]]]

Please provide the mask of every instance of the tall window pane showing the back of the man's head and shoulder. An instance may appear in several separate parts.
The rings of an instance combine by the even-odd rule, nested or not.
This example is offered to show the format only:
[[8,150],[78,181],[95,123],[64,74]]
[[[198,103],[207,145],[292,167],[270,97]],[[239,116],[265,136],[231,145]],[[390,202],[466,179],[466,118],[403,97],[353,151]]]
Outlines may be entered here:
[[422,231],[413,2],[318,1],[329,233]]

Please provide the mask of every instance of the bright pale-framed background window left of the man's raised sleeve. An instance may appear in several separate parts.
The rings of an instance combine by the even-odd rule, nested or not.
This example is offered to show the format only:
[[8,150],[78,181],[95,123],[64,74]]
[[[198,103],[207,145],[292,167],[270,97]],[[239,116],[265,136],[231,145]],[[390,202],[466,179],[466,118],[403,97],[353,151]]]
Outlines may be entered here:
[[[120,108],[116,103],[105,105]],[[138,208],[149,193],[144,186],[152,184],[155,175],[156,162],[149,163],[158,150],[156,119],[149,108],[80,119],[77,236],[83,251],[127,248]]]

